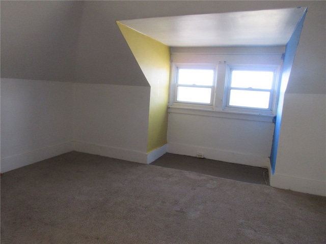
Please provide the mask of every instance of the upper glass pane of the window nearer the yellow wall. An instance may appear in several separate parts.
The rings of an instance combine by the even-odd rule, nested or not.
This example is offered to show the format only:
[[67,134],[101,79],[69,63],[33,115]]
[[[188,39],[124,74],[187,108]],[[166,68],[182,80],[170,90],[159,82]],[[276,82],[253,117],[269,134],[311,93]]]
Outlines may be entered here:
[[179,69],[178,83],[182,85],[213,85],[214,70]]

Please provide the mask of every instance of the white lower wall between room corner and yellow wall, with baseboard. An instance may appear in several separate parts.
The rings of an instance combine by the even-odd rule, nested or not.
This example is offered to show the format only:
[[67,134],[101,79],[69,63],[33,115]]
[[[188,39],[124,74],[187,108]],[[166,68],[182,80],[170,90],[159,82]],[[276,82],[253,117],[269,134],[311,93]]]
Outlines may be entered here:
[[150,87],[74,84],[75,150],[147,163]]

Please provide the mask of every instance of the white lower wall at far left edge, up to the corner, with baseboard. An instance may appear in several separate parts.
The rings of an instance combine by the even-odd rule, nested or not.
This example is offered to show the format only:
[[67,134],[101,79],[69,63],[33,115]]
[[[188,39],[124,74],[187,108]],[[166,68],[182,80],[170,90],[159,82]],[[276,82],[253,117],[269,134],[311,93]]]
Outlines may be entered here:
[[1,79],[1,172],[72,150],[72,83]]

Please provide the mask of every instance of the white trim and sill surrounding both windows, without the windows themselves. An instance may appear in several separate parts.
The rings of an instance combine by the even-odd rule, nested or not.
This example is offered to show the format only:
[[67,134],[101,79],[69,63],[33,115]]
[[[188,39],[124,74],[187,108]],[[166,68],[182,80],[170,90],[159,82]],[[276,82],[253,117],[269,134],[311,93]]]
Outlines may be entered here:
[[[257,49],[257,48],[256,48]],[[172,53],[172,58],[176,59],[173,62],[171,59],[171,76],[170,76],[170,90],[169,90],[169,104],[168,104],[168,112],[169,113],[186,113],[193,115],[201,115],[201,116],[212,116],[212,117],[225,117],[225,118],[235,118],[235,119],[246,119],[246,120],[257,120],[257,121],[265,121],[268,123],[272,123],[275,119],[276,110],[278,107],[278,97],[280,90],[280,79],[282,76],[283,69],[283,61],[282,61],[282,53],[283,47],[278,48],[276,51],[273,49],[269,51],[270,48],[263,49],[263,51],[255,52],[254,50],[247,50],[246,52],[234,52],[234,53],[225,53],[223,52],[198,52],[190,49],[186,52],[179,53],[174,51]],[[206,50],[206,49],[205,49]],[[256,58],[257,57],[257,58]],[[279,59],[280,58],[280,59]],[[228,60],[228,61],[225,61]],[[203,62],[202,62],[203,61]],[[215,84],[215,92],[214,92],[214,101],[213,106],[200,106],[193,104],[174,104],[173,97],[174,96],[174,85],[173,85],[173,77],[174,66],[173,65],[213,65],[216,66],[216,84]],[[266,112],[266,110],[259,110],[257,108],[254,109],[228,109],[226,108],[226,76],[227,76],[227,66],[255,66],[255,67],[275,67],[277,70],[277,78],[275,82],[275,90],[273,93],[273,106],[271,112]]]

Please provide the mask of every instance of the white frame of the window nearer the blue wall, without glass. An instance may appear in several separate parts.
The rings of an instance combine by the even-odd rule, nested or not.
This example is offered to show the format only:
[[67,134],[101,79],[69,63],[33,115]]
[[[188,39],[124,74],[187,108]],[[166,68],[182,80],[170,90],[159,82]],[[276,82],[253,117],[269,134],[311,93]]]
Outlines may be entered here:
[[[256,114],[275,114],[277,108],[278,90],[279,90],[279,77],[280,77],[280,65],[254,65],[254,64],[243,64],[243,65],[233,65],[227,64],[226,66],[226,76],[225,76],[225,87],[224,87],[224,98],[223,98],[223,110],[234,111],[234,112],[246,112],[246,113],[256,113]],[[254,107],[244,107],[244,106],[234,106],[229,105],[230,102],[230,92],[232,88],[239,89],[236,87],[231,87],[231,74],[234,70],[242,71],[271,71],[273,72],[273,84],[270,89],[255,89],[255,88],[241,88],[241,90],[262,90],[270,93],[268,108],[254,108]],[[239,89],[240,90],[240,89]]]

